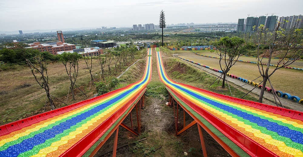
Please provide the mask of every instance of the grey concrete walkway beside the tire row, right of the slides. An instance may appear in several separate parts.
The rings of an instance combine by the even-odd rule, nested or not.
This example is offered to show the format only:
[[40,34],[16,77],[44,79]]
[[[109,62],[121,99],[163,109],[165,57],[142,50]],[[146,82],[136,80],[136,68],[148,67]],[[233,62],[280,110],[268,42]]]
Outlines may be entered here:
[[[175,58],[178,58],[178,57],[175,57]],[[180,58],[178,58],[180,59]],[[212,74],[212,75],[215,75],[215,76],[220,76],[221,73],[218,73],[218,72],[215,72],[215,71],[212,71],[211,69],[208,69],[208,68],[205,68],[205,67],[201,67],[201,66],[198,66],[194,63],[191,63],[191,62],[187,62],[183,59],[180,59],[181,61],[183,62],[186,62],[186,63],[189,63],[190,65],[192,66],[195,66],[209,74]],[[238,79],[234,79],[234,78],[230,78],[230,77],[226,77],[228,82],[231,82],[233,83],[235,86],[239,87],[241,86],[240,88],[242,89],[245,89],[247,91],[250,91],[252,90],[253,88],[255,88],[255,86],[252,86],[252,85],[249,85],[249,84],[246,84]],[[251,93],[254,93],[258,96],[260,96],[260,92],[261,92],[261,89],[260,88],[255,88],[254,90],[251,91]],[[267,91],[264,91],[264,96],[263,96],[263,99],[266,99],[268,101],[271,101],[273,103],[275,103],[275,99],[273,97],[273,94],[270,93],[270,92],[267,92]],[[277,99],[278,101],[278,99]],[[292,110],[297,110],[297,111],[303,111],[303,105],[301,103],[297,103],[295,101],[292,101],[292,100],[289,100],[289,99],[285,99],[285,98],[280,98],[280,101],[281,103],[284,105],[285,108],[288,108],[288,109],[292,109]]]

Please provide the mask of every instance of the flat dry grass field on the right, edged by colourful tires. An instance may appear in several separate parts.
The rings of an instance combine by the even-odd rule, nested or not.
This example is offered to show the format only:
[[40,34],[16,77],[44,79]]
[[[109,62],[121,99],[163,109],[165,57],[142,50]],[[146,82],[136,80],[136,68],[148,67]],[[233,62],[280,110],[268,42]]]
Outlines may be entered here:
[[[174,53],[178,53],[178,56],[182,58],[189,59],[191,61],[210,66],[215,69],[220,69],[219,59],[217,58],[199,56],[190,51],[175,51]],[[210,56],[210,52],[206,53],[206,51],[203,51],[203,53],[199,54]],[[211,54],[214,56],[214,53]],[[302,61],[299,61],[298,65],[301,63]],[[258,66],[256,64],[246,62],[236,62],[229,73],[248,80],[254,80],[260,76]],[[303,93],[301,92],[301,87],[303,86],[303,82],[301,81],[303,80],[302,74],[303,72],[299,70],[281,68],[271,76],[271,82],[275,89],[303,98]],[[254,82],[260,83],[261,81],[262,78],[258,78]],[[267,86],[269,86],[269,84]]]

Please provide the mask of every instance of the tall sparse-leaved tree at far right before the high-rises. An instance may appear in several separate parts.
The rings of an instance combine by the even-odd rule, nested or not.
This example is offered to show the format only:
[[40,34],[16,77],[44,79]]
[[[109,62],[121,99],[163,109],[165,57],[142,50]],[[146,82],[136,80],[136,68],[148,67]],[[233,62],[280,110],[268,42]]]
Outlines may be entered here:
[[[265,29],[264,25],[262,24],[258,26],[258,29],[256,30],[255,44],[257,45],[256,50],[258,59],[258,69],[260,75],[263,78],[263,84],[259,97],[260,103],[263,101],[263,95],[267,81],[270,83],[271,89],[274,91],[274,88],[270,81],[270,76],[278,69],[283,68],[285,66],[289,66],[290,64],[292,64],[297,59],[303,56],[303,31],[302,29],[296,29],[300,21],[301,20],[298,20],[296,24],[288,31],[280,27],[280,22],[275,25],[275,30],[273,32],[269,32],[269,30]],[[255,28],[256,27],[254,27],[254,29]],[[282,55],[280,56],[280,58],[282,59],[280,59],[276,63],[275,68],[270,68],[271,57],[273,57],[273,53],[276,51],[279,51],[280,55]],[[268,61],[265,61],[266,64],[264,65],[262,59],[265,55],[268,55]],[[273,95],[276,101],[278,95],[275,92],[273,92]],[[280,101],[279,98],[278,101]],[[283,104],[281,104],[281,106],[283,107]]]

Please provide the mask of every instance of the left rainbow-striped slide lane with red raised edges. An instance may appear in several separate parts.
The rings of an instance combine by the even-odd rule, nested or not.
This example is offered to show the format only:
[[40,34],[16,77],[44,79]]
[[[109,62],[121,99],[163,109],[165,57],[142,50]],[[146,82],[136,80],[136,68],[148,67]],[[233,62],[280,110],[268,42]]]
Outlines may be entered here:
[[148,49],[142,79],[107,94],[0,127],[2,157],[82,156],[146,90],[151,79]]

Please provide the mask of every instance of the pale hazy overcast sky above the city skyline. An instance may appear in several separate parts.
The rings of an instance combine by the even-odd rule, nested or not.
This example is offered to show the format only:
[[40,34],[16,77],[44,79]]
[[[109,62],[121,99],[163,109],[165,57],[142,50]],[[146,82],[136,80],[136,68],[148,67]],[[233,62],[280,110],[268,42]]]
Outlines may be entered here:
[[0,31],[81,27],[132,27],[166,24],[238,22],[268,13],[303,14],[303,0],[1,0]]

